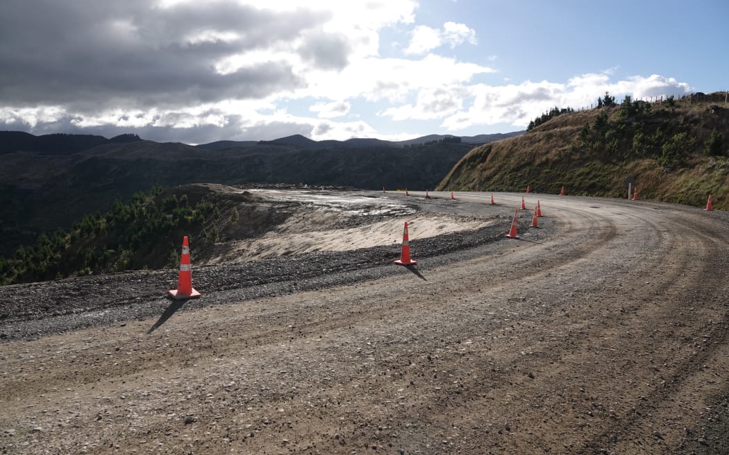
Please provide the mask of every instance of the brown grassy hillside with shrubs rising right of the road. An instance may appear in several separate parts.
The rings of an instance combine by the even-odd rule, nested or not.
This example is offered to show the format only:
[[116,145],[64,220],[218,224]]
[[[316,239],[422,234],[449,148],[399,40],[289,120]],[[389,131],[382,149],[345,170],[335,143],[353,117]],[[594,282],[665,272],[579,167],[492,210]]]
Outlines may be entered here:
[[555,109],[523,135],[469,151],[438,189],[625,197],[631,177],[641,199],[703,207],[711,193],[727,210],[729,104],[713,98]]

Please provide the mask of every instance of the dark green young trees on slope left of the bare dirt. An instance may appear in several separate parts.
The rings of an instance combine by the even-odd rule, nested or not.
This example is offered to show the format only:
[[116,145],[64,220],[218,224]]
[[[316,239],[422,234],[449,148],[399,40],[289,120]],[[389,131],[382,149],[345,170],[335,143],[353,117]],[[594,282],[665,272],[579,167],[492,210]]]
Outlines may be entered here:
[[162,191],[155,186],[134,194],[128,204],[117,200],[108,212],[86,215],[68,232],[41,234],[15,256],[0,256],[0,284],[174,266],[183,235],[217,240],[214,229],[204,229],[219,217],[216,205],[201,200],[192,206],[186,194],[163,197]]

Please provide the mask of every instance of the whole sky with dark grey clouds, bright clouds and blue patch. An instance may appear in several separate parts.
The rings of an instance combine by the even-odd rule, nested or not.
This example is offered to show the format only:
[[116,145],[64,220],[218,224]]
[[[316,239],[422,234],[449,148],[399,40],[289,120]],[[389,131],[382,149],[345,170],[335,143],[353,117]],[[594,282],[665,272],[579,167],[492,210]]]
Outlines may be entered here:
[[725,0],[3,0],[0,130],[154,141],[523,130],[729,90]]

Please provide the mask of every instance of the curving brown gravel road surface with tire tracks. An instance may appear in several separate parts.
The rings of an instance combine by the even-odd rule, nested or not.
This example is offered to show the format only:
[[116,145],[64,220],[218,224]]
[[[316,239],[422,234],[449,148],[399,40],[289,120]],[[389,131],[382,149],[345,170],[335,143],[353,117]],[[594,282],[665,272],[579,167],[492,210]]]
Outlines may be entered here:
[[[453,206],[505,234],[523,195],[489,197]],[[0,451],[729,453],[727,214],[526,197],[539,240],[527,212],[448,263],[5,340]]]

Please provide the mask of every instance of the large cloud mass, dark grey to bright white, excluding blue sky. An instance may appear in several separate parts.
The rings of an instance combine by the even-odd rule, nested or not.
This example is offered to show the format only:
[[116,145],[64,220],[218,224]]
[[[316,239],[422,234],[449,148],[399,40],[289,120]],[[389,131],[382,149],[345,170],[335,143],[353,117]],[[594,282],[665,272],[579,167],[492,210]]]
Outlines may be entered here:
[[[510,75],[502,85],[476,83],[496,69],[433,52],[476,44],[475,31],[415,25],[417,9],[416,0],[11,1],[0,15],[12,37],[0,47],[9,68],[0,71],[0,127],[133,130],[194,143],[295,133],[386,138],[367,122],[372,112],[441,122],[450,132],[521,128],[550,107],[590,106],[606,91],[620,99],[690,90],[655,74],[614,81],[617,67],[566,82]],[[388,27],[412,30],[407,58],[379,54]],[[312,114],[289,114],[292,104]]]

